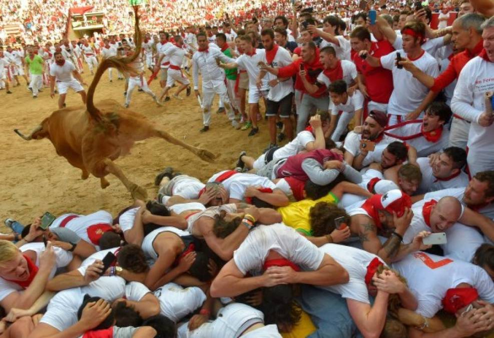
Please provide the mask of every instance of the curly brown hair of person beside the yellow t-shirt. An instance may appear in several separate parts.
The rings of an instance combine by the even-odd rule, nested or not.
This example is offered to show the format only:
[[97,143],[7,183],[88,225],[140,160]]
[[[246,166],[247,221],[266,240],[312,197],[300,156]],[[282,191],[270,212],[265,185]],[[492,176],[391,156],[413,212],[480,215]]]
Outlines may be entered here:
[[350,224],[350,216],[336,204],[318,202],[309,210],[309,222],[312,235],[319,237],[330,234],[334,230],[334,219],[345,217],[345,223]]

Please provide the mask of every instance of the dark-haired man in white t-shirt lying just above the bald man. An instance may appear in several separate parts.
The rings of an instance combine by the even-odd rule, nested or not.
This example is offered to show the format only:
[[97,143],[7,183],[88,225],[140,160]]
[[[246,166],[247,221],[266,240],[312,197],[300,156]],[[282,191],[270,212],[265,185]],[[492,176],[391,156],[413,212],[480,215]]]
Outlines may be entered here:
[[445,148],[443,152],[431,158],[417,158],[422,172],[422,182],[418,194],[448,188],[461,188],[468,184],[468,175],[463,171],[466,164],[466,152],[458,147]]

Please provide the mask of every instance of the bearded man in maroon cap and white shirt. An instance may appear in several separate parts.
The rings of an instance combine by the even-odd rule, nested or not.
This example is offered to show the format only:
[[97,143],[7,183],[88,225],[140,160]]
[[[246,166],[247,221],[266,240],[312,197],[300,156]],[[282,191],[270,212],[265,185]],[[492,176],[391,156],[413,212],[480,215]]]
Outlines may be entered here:
[[[400,141],[384,134],[384,127],[386,124],[387,116],[384,112],[371,111],[361,127],[361,133],[351,131],[346,135],[343,145],[343,148],[345,149],[345,162],[351,164],[352,167],[358,170],[373,162],[380,162],[382,152],[387,145],[394,141]],[[372,151],[366,150],[362,143],[364,140],[374,142],[375,149]],[[409,149],[412,149],[412,147]],[[409,153],[408,161],[414,163],[415,160],[416,156]]]

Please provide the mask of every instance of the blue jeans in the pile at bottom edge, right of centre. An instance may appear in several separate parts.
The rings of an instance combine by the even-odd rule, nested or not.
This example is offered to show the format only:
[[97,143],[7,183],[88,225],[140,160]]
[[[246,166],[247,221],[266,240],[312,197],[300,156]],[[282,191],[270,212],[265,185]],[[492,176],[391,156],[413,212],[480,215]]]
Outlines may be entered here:
[[348,312],[346,299],[311,285],[302,285],[299,303],[317,327],[308,338],[349,338],[362,335]]

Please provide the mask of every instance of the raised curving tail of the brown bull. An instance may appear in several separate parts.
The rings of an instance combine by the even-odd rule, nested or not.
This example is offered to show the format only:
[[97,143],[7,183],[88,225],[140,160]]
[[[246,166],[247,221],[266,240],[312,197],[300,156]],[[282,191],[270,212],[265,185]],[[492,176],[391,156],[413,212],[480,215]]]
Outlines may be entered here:
[[132,63],[137,59],[139,54],[141,54],[142,50],[142,35],[141,35],[141,30],[139,29],[139,15],[138,15],[138,6],[134,6],[134,17],[136,19],[136,24],[135,24],[135,37],[134,41],[136,43],[136,49],[134,51],[134,54],[121,58],[121,57],[111,57],[106,60],[103,60],[98,69],[96,70],[95,76],[93,78],[93,81],[91,82],[91,85],[89,86],[88,89],[88,98],[86,101],[86,107],[88,109],[88,113],[91,116],[91,118],[97,122],[102,121],[102,116],[101,112],[94,106],[93,103],[93,97],[94,97],[94,92],[96,89],[96,86],[98,86],[98,83],[100,82],[100,79],[105,73],[105,71],[108,68],[116,68],[118,69],[121,73],[129,73],[129,74],[136,74],[136,71],[132,65]]

